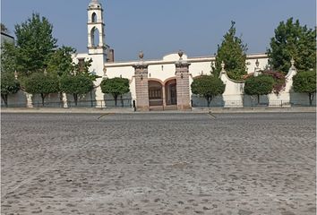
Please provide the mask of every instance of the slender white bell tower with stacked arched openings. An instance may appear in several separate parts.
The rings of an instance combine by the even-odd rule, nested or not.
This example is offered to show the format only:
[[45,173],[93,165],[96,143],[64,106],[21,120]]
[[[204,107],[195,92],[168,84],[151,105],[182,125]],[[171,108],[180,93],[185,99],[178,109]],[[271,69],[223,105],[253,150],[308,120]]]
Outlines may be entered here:
[[98,0],[91,0],[88,6],[88,53],[89,55],[103,55],[107,59],[105,42],[105,22],[102,4]]

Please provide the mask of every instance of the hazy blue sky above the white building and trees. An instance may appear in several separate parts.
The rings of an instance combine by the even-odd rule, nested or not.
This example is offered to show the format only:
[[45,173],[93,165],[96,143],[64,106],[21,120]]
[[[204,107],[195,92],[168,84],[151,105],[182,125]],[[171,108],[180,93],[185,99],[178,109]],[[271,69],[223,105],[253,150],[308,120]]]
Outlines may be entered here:
[[[212,56],[236,22],[236,35],[247,54],[265,53],[278,23],[298,19],[316,26],[315,0],[99,0],[104,8],[106,43],[116,61],[145,59],[184,50],[188,56]],[[1,0],[1,22],[14,36],[14,25],[32,13],[47,17],[58,45],[87,50],[90,0]]]

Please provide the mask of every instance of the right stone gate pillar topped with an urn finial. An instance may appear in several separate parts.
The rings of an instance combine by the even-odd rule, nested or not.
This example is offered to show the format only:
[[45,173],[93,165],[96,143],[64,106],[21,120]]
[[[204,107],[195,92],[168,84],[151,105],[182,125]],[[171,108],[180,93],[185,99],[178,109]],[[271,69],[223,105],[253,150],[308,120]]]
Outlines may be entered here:
[[176,62],[176,94],[177,109],[188,110],[191,107],[191,97],[189,89],[189,66],[190,64],[183,61],[183,52],[178,53],[179,61]]

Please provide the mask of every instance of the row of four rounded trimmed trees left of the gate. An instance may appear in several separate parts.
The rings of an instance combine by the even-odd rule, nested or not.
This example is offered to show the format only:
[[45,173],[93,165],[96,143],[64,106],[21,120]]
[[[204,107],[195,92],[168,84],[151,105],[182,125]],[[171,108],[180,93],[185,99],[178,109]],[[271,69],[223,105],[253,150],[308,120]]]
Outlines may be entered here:
[[[45,104],[45,98],[50,93],[68,93],[73,95],[75,106],[81,95],[85,95],[93,90],[94,85],[90,76],[84,73],[76,75],[56,75],[47,73],[32,73],[23,80],[24,90],[31,94],[39,94],[42,99],[42,106]],[[117,99],[130,91],[129,80],[124,78],[105,79],[100,87],[103,93],[111,94]],[[20,82],[14,77],[13,73],[3,73],[1,77],[1,97],[4,100],[5,107],[8,106],[8,95],[17,93],[21,90]]]

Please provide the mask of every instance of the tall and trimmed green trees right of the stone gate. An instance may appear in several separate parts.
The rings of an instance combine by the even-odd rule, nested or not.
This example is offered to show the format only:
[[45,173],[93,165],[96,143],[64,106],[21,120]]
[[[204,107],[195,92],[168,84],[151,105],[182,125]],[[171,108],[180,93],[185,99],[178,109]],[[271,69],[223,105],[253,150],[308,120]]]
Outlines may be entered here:
[[236,22],[224,35],[222,43],[218,45],[215,64],[211,64],[212,75],[203,75],[193,81],[192,91],[207,100],[208,106],[214,97],[224,92],[225,86],[218,79],[225,63],[227,75],[232,80],[245,80],[244,93],[257,96],[271,92],[278,94],[285,88],[285,74],[291,67],[291,59],[296,62],[297,74],[293,78],[293,90],[307,93],[310,104],[316,92],[316,28],[308,29],[301,26],[293,18],[287,22],[280,22],[275,30],[275,36],[270,39],[267,50],[269,66],[261,75],[247,75],[246,51],[247,45],[241,38],[236,37]]

